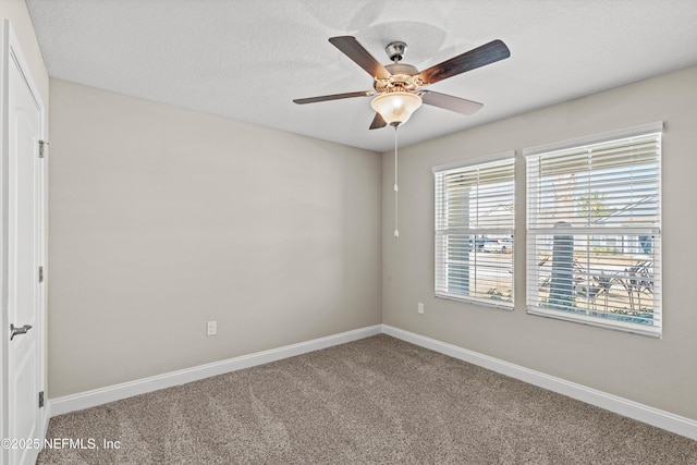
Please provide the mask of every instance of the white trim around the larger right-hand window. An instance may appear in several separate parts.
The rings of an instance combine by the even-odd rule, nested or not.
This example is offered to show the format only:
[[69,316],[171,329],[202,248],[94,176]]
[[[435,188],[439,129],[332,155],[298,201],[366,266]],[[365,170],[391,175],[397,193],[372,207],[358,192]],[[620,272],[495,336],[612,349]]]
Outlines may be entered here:
[[[641,125],[637,125],[637,126],[633,126],[633,127],[627,127],[627,129],[623,129],[623,130],[617,130],[617,131],[611,131],[611,132],[607,132],[607,133],[600,133],[600,134],[594,134],[594,135],[589,135],[589,136],[584,136],[584,137],[578,137],[578,138],[574,138],[574,139],[570,139],[570,140],[562,140],[562,142],[555,142],[555,143],[551,143],[551,144],[545,144],[545,145],[540,145],[540,146],[536,146],[536,147],[529,147],[529,148],[525,148],[523,149],[523,156],[525,158],[525,183],[526,183],[526,187],[525,187],[525,211],[526,211],[526,228],[525,228],[525,247],[526,247],[526,280],[528,281],[526,283],[525,286],[525,309],[526,313],[528,315],[537,315],[537,316],[542,316],[542,317],[549,317],[549,318],[553,318],[553,319],[558,319],[558,320],[563,320],[563,321],[571,321],[571,322],[575,322],[575,323],[582,323],[582,325],[586,325],[586,326],[592,326],[592,327],[598,327],[598,328],[603,328],[603,329],[610,329],[610,330],[615,330],[615,331],[621,331],[621,332],[629,332],[629,333],[636,333],[636,334],[643,334],[643,335],[649,335],[649,336],[653,336],[653,338],[661,338],[662,336],[662,330],[663,330],[663,305],[662,305],[662,296],[661,296],[661,292],[662,292],[662,286],[663,286],[663,273],[662,273],[662,187],[661,187],[661,159],[663,157],[662,155],[662,144],[660,142],[659,138],[659,151],[658,151],[658,160],[659,160],[659,168],[658,168],[658,228],[657,228],[657,240],[658,240],[658,244],[659,244],[659,249],[661,250],[659,253],[658,256],[658,266],[657,266],[657,273],[659,273],[659,279],[658,279],[658,295],[657,295],[657,299],[659,302],[659,325],[658,326],[643,326],[643,325],[638,325],[638,323],[632,323],[632,322],[626,322],[626,321],[621,321],[621,320],[607,320],[604,318],[601,317],[595,317],[595,316],[584,316],[584,315],[575,315],[575,314],[571,314],[571,313],[564,313],[563,310],[554,310],[554,309],[547,309],[543,307],[540,307],[539,305],[533,305],[531,304],[531,297],[537,295],[537,293],[531,293],[530,292],[530,282],[529,280],[536,277],[533,277],[528,273],[528,268],[529,268],[529,260],[530,260],[530,254],[531,250],[536,249],[536,246],[534,244],[534,241],[536,240],[536,237],[539,234],[545,234],[545,230],[543,229],[539,229],[539,231],[536,231],[535,233],[530,233],[530,211],[533,210],[531,206],[530,206],[530,201],[531,201],[531,196],[529,193],[529,185],[530,185],[530,179],[529,179],[529,168],[528,168],[528,159],[529,157],[534,157],[534,156],[539,156],[542,154],[550,154],[550,152],[554,152],[554,151],[562,151],[562,150],[567,150],[567,149],[573,149],[573,148],[577,148],[577,147],[583,147],[583,146],[589,146],[589,145],[595,145],[595,144],[602,144],[602,143],[611,143],[613,140],[617,140],[617,139],[623,139],[623,138],[631,138],[631,137],[640,137],[644,135],[649,135],[649,134],[663,134],[663,122],[662,121],[658,121],[658,122],[653,122],[653,123],[648,123],[648,124],[641,124]],[[632,228],[620,228],[622,230],[623,233],[626,233],[627,231],[632,231]],[[584,235],[584,232],[579,232],[580,235]]]

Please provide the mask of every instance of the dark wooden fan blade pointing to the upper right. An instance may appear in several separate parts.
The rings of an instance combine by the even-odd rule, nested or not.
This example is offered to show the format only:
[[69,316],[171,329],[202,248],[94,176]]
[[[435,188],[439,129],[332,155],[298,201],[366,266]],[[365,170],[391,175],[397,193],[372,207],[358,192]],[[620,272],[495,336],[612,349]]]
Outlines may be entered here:
[[497,39],[424,70],[418,75],[425,84],[433,84],[509,57],[511,50]]

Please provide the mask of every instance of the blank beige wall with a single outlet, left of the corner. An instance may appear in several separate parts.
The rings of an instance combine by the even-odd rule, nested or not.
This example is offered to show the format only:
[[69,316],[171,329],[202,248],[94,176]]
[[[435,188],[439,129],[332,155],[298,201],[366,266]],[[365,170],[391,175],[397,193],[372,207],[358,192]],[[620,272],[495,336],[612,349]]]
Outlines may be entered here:
[[50,91],[51,397],[380,322],[379,154]]

